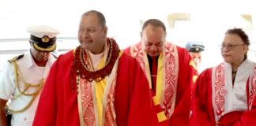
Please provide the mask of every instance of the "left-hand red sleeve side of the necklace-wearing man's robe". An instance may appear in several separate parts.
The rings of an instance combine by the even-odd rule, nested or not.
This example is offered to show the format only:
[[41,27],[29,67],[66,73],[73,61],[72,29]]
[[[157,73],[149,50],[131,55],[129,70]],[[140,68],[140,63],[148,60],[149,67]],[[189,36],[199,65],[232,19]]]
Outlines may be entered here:
[[60,55],[52,65],[40,101],[33,126],[79,126],[77,87],[71,87],[73,50]]

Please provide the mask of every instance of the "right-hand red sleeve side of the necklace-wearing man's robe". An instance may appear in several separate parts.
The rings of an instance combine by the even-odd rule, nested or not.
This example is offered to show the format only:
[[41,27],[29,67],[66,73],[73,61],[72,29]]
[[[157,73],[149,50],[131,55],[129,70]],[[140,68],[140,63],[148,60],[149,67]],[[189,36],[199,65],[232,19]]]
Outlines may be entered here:
[[149,82],[136,59],[127,54],[122,54],[119,59],[115,113],[118,125],[159,125]]

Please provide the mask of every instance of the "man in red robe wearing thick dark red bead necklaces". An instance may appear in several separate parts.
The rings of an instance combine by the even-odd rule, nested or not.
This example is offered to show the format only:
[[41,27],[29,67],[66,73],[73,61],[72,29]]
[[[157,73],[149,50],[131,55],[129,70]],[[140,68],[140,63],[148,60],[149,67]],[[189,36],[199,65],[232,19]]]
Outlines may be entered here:
[[78,31],[81,46],[52,66],[34,126],[159,125],[141,66],[106,36],[104,15],[84,13]]

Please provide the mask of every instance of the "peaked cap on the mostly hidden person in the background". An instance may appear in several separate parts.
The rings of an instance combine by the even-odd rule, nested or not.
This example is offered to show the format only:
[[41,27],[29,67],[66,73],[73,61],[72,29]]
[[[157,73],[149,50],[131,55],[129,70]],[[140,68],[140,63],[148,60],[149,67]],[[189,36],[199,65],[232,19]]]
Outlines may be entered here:
[[186,43],[185,48],[188,52],[200,53],[205,50],[205,45],[199,41],[190,41]]

